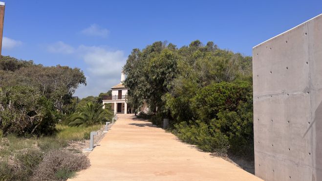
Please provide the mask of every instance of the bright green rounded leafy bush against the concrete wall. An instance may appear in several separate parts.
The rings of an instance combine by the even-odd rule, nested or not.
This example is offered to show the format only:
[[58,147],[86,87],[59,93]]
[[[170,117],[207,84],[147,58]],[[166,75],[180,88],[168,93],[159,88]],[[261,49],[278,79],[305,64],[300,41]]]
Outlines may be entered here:
[[[192,99],[195,117],[229,141],[230,151],[238,155],[254,152],[253,91],[246,81],[212,83]],[[215,134],[213,134],[215,135]]]

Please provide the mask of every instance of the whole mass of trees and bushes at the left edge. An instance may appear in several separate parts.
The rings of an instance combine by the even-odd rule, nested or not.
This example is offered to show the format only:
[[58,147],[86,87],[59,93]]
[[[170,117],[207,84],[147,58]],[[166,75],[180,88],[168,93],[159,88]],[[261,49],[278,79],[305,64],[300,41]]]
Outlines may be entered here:
[[0,132],[19,136],[52,134],[80,84],[86,84],[86,78],[79,68],[46,67],[2,56]]

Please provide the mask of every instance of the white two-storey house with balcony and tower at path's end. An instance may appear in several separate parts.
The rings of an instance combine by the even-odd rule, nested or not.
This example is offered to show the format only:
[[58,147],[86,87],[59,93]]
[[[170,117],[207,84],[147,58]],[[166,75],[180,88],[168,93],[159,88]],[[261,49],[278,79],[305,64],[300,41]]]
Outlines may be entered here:
[[111,104],[111,108],[114,110],[114,114],[127,114],[128,104],[127,104],[127,94],[128,89],[123,85],[125,80],[124,71],[121,73],[121,82],[117,85],[111,87],[112,96],[107,96],[103,98],[103,108],[105,108],[106,103]]

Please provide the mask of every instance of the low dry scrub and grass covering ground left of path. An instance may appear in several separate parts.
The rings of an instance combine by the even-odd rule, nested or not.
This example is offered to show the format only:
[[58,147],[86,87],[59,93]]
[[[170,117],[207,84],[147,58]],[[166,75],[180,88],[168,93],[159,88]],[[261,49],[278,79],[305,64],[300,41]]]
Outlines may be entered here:
[[70,127],[57,125],[54,137],[0,137],[0,181],[66,180],[89,166],[82,150],[88,146],[84,135],[99,130],[97,144],[103,138],[103,126]]

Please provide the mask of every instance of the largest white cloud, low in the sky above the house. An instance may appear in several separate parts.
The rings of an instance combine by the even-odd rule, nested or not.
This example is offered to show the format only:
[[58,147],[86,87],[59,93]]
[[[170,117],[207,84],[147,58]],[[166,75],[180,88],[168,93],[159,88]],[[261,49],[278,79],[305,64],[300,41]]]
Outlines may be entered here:
[[120,82],[122,67],[127,59],[123,51],[84,45],[79,46],[77,50],[87,65],[87,86],[77,89],[75,96],[98,96]]

